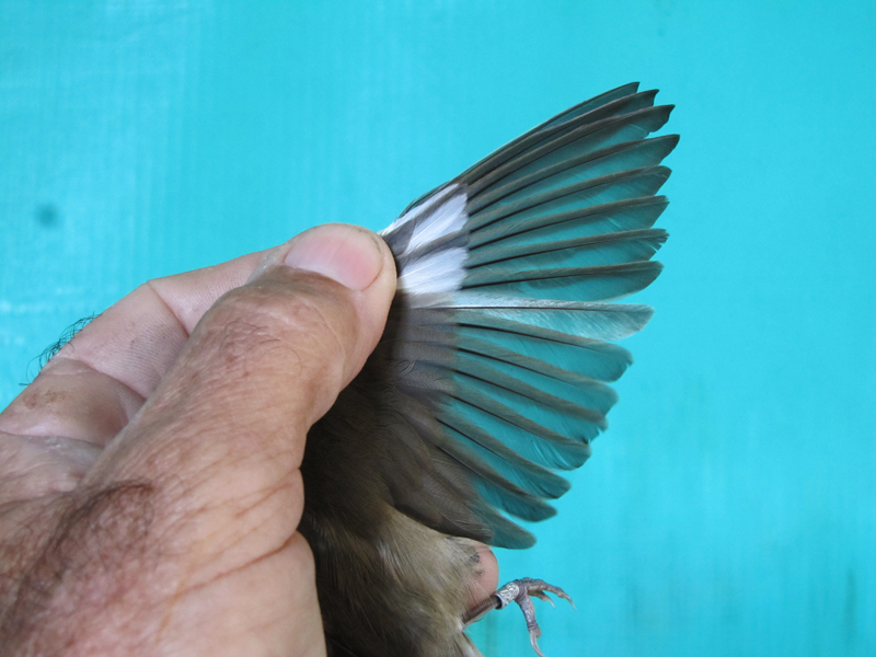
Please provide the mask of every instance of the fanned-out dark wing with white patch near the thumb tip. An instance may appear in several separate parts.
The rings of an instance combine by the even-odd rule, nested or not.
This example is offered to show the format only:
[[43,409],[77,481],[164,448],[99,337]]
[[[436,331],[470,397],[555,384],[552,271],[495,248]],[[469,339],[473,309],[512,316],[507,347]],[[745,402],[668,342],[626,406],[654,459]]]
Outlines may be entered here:
[[387,383],[391,503],[439,531],[526,548],[554,515],[632,362],[608,341],[652,309],[608,303],[660,273],[667,233],[648,138],[671,106],[627,84],[576,105],[422,197],[382,235],[399,295],[366,366]]

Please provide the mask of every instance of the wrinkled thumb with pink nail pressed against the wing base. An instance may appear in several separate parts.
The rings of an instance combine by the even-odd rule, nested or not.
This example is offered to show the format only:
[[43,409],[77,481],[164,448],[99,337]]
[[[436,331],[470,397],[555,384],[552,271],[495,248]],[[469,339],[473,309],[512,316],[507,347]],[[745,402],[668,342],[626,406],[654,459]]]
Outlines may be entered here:
[[392,254],[365,229],[321,226],[269,251],[205,313],[92,477],[178,480],[251,461],[296,470],[308,429],[380,339],[394,292]]

